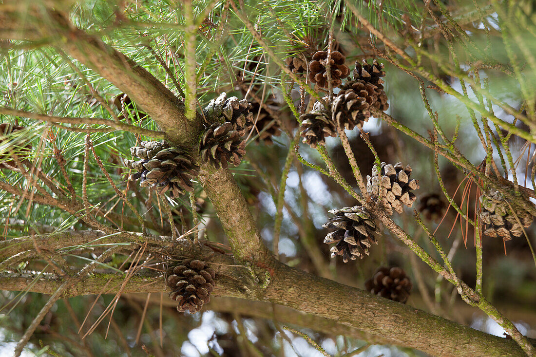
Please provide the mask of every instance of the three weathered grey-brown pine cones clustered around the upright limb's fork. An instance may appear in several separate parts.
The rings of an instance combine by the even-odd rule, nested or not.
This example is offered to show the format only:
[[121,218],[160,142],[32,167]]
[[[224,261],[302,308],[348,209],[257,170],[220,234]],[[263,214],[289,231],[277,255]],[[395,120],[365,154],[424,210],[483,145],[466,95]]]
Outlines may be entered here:
[[[227,163],[238,166],[245,153],[244,136],[253,126],[251,103],[236,96],[227,98],[224,92],[203,109],[207,125],[199,143],[204,162],[216,168],[227,168]],[[159,194],[170,192],[171,197],[193,191],[192,178],[199,174],[197,166],[186,151],[165,142],[142,142],[130,148],[137,160],[126,160],[126,166],[135,170],[129,180],[140,179],[140,186],[150,187]]]

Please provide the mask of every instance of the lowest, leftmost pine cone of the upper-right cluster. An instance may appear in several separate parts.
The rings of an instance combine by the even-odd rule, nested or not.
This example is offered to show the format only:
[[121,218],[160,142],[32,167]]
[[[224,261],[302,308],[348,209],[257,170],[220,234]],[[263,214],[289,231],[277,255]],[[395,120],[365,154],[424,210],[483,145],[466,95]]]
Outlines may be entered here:
[[315,148],[318,144],[324,145],[327,136],[336,137],[337,130],[331,120],[331,113],[326,110],[321,102],[316,102],[312,110],[300,116],[301,125],[299,130],[303,137],[303,143]]

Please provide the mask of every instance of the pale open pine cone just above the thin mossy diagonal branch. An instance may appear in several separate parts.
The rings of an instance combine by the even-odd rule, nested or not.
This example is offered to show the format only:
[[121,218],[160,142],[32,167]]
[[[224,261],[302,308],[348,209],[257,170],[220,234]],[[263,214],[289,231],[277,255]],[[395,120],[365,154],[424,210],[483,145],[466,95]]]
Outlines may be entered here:
[[411,207],[417,198],[411,190],[419,189],[419,181],[410,179],[410,175],[410,165],[404,167],[397,162],[393,166],[382,162],[379,173],[374,166],[372,177],[367,175],[367,192],[383,205],[386,214],[392,215],[393,209],[402,213],[403,205]]

